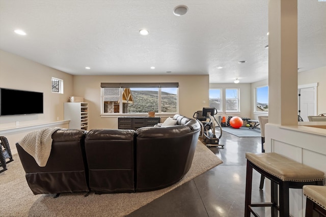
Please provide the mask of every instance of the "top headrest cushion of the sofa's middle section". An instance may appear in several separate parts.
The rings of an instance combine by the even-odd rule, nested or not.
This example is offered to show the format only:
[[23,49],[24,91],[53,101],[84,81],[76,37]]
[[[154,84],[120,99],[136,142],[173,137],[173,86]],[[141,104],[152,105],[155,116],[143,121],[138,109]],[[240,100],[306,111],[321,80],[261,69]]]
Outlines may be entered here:
[[134,135],[134,130],[94,129],[88,132],[86,140],[132,140]]

